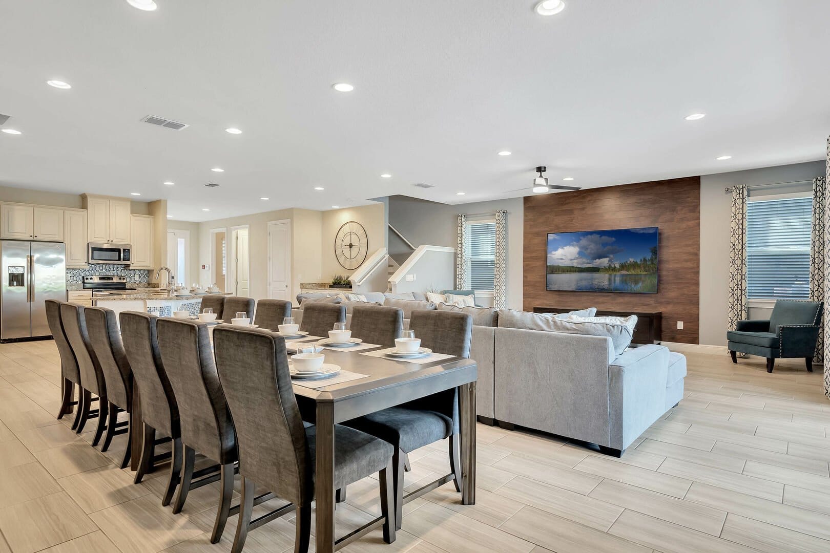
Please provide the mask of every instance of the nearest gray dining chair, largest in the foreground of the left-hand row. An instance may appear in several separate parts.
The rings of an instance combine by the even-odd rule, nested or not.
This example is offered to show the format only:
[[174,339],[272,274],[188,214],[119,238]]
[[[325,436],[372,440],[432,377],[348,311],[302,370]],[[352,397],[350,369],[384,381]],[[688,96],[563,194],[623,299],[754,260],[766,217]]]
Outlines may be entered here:
[[[249,530],[296,510],[295,552],[309,548],[315,497],[315,426],[305,426],[291,385],[283,337],[227,325],[213,331],[222,389],[237,429],[242,510],[232,553],[240,553]],[[381,439],[334,426],[334,488],[378,473],[381,516],[335,544],[344,545],[383,521],[383,541],[395,541],[392,497],[393,448]],[[254,490],[265,488],[291,502],[251,522]]]

